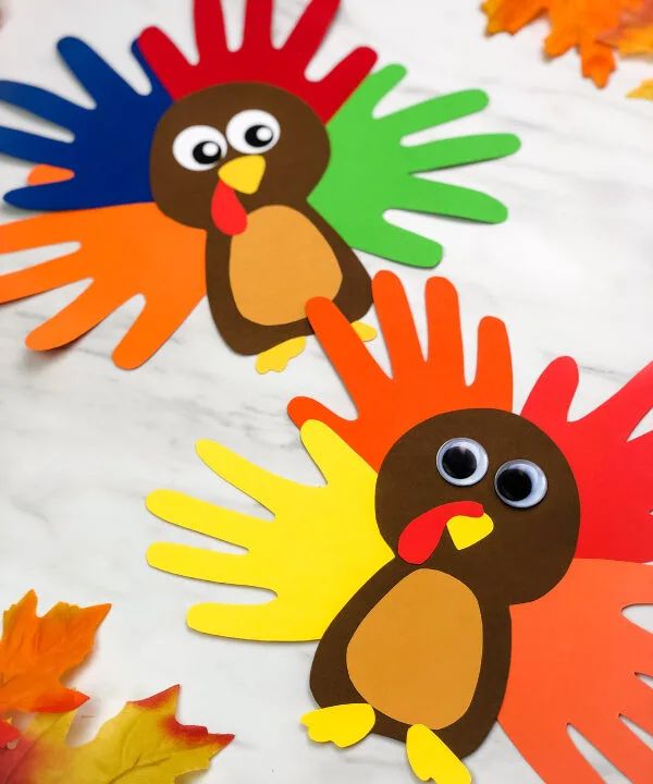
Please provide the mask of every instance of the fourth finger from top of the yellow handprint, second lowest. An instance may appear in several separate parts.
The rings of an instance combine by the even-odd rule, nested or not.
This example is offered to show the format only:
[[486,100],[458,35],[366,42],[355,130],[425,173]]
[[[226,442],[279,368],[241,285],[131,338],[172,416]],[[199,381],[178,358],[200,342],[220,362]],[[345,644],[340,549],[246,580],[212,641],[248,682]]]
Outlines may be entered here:
[[156,542],[147,550],[147,562],[180,577],[220,585],[269,587],[264,584],[267,575],[256,566],[250,553],[235,555],[189,544]]

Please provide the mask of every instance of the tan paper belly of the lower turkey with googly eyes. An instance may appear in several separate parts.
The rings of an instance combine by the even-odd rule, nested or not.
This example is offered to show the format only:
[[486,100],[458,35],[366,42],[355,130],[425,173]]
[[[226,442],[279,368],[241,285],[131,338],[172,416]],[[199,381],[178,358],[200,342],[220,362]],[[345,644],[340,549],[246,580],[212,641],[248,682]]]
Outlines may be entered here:
[[433,569],[405,577],[368,613],[347,648],[357,691],[405,724],[448,726],[473,697],[483,650],[475,595]]

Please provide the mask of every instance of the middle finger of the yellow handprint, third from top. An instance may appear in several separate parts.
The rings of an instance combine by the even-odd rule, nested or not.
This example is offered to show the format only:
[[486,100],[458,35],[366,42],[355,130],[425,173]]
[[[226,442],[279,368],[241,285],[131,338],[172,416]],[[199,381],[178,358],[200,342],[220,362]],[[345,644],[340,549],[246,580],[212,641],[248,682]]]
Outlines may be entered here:
[[272,525],[174,490],[155,490],[146,505],[167,523],[247,549]]

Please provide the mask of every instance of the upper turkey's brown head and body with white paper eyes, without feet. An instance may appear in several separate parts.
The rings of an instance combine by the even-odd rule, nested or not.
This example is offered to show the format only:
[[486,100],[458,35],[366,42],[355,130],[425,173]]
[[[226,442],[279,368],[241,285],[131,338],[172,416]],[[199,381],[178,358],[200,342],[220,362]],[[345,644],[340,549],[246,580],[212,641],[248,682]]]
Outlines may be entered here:
[[307,203],[329,155],[308,103],[267,84],[194,93],[157,128],[152,194],[170,218],[207,231],[211,313],[241,354],[309,334],[312,296],[352,321],[371,305],[365,268]]

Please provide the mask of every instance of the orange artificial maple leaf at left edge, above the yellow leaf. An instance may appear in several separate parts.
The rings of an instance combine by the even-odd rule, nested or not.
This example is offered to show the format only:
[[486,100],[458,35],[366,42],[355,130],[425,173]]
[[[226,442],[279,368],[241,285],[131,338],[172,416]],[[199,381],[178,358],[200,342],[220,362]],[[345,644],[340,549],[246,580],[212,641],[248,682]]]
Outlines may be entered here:
[[[0,718],[15,711],[60,713],[88,699],[63,686],[61,678],[86,659],[111,605],[78,608],[59,602],[39,617],[36,593],[28,591],[2,618]],[[0,719],[0,747],[19,734]],[[0,760],[5,754],[0,754]]]

